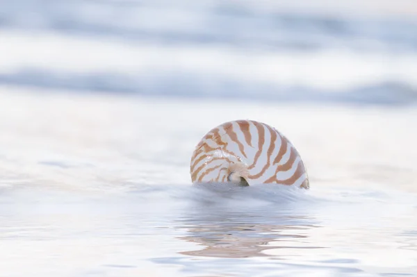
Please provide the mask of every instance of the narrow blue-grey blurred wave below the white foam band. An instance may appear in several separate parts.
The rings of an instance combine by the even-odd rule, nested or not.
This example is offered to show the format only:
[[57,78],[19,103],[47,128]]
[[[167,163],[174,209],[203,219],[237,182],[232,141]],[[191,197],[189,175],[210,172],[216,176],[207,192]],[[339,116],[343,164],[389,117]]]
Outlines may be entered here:
[[[207,85],[210,83],[210,85]],[[375,83],[346,90],[317,90],[305,86],[273,86],[227,78],[177,74],[137,78],[117,73],[74,74],[24,70],[0,74],[0,84],[35,87],[50,92],[119,93],[138,96],[291,101],[299,103],[351,103],[356,105],[409,106],[417,103],[417,90],[407,83]],[[214,87],[214,88],[213,88]]]

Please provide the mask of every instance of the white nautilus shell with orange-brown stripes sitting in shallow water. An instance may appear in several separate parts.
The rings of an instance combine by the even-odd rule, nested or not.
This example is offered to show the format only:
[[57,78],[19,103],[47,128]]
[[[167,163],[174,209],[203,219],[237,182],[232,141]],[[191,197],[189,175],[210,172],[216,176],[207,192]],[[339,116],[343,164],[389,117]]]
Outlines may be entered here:
[[300,154],[275,128],[258,121],[229,121],[206,133],[191,157],[193,183],[276,183],[309,189]]

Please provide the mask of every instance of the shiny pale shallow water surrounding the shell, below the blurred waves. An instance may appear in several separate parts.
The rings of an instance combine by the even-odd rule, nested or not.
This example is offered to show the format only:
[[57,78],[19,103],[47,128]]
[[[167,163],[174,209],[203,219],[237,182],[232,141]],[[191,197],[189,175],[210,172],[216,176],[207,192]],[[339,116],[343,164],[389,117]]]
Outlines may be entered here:
[[[0,96],[1,276],[417,273],[414,108],[10,90]],[[198,140],[244,117],[290,138],[311,190],[191,185]]]

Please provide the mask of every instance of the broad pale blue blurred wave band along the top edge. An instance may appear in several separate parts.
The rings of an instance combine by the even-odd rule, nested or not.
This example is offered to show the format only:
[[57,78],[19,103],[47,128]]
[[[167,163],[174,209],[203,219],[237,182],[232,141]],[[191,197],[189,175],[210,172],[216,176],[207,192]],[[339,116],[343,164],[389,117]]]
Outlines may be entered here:
[[203,1],[190,6],[179,4],[186,1],[175,5],[152,1],[3,2],[0,27],[26,31],[274,50],[341,47],[355,51],[417,51],[417,21],[398,18],[256,10],[230,1]]

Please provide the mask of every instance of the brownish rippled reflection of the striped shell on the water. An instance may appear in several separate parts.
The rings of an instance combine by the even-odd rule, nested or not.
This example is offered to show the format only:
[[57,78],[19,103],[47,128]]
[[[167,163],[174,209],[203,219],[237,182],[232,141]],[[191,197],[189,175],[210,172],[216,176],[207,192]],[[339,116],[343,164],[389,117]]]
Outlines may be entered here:
[[[264,217],[248,212],[220,212],[207,208],[181,221],[186,235],[180,240],[193,242],[200,249],[180,251],[182,255],[215,258],[253,258],[305,253],[322,246],[306,243],[316,220],[303,215],[273,215],[279,224],[268,224]],[[196,208],[198,211],[198,208]],[[291,255],[290,254],[290,255]]]

